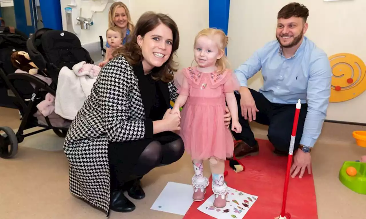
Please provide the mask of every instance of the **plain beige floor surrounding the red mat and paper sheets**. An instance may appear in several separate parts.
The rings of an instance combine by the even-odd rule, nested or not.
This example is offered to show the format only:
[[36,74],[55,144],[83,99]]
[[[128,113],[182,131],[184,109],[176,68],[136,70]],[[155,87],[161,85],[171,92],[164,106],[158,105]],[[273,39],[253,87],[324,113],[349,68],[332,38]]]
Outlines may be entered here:
[[[0,108],[0,126],[16,129],[19,123],[18,111]],[[265,127],[255,124],[253,127],[256,137],[266,138]],[[344,161],[358,160],[361,155],[366,154],[366,148],[355,145],[351,135],[354,130],[366,129],[325,123],[322,135],[312,152],[320,219],[365,218],[366,195],[350,191],[338,180],[339,168]],[[18,154],[13,159],[0,158],[1,219],[105,218],[101,211],[68,192],[68,161],[62,146],[63,139],[52,131],[46,131],[27,137],[20,143]],[[190,177],[181,177],[193,174],[188,163],[189,157],[185,154],[175,164],[152,170],[142,180],[146,198],[133,200],[137,210],[128,214],[111,212],[109,218],[182,218],[180,215],[150,210],[150,207],[168,181],[191,183]],[[205,174],[209,175],[209,172]]]

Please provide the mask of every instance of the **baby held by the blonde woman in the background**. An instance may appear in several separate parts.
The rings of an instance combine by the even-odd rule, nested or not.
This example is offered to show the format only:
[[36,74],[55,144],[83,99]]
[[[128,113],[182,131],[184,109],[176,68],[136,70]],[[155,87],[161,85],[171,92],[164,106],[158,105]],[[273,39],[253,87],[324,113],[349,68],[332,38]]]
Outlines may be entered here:
[[107,42],[109,46],[111,46],[111,50],[108,54],[105,54],[105,60],[99,63],[99,67],[103,67],[105,64],[107,64],[107,62],[109,62],[109,60],[113,58],[113,51],[122,45],[122,35],[123,33],[121,28],[117,26],[108,28]]

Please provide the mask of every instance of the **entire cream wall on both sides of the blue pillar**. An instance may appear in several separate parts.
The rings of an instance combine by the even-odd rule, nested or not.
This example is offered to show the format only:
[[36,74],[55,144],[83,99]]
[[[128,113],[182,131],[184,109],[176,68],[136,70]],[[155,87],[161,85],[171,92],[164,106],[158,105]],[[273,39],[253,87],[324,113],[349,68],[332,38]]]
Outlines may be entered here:
[[[66,22],[64,8],[70,1],[61,0],[64,26]],[[76,1],[78,5],[81,5],[82,0]],[[145,11],[162,12],[171,16],[180,31],[180,45],[176,59],[179,61],[179,68],[191,65],[194,37],[199,30],[209,26],[209,0],[122,1],[130,9],[134,23]],[[275,39],[277,12],[283,5],[290,2],[288,0],[231,0],[228,58],[233,69],[242,64],[264,43]],[[307,37],[323,49],[328,56],[336,53],[352,53],[366,62],[366,51],[362,47],[364,36],[366,36],[366,19],[362,16],[366,11],[365,1],[324,2],[322,0],[307,0],[303,3],[310,10]],[[82,30],[79,35],[82,43],[98,42],[98,36],[105,35],[110,5],[111,3],[103,12],[94,14],[95,24],[90,27],[90,30]],[[96,47],[96,49],[99,48]],[[257,90],[261,87],[260,73],[250,80],[249,85]],[[363,114],[365,102],[366,92],[350,101],[330,103],[327,119],[366,123],[366,116]]]

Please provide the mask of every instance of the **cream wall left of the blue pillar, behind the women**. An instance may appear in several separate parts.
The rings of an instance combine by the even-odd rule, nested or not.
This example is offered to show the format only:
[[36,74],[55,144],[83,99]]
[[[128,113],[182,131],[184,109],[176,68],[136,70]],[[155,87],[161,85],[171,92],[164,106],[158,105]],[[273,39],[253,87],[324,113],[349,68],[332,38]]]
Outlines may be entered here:
[[[64,8],[67,7],[71,0],[61,0],[61,12],[63,18],[63,28],[66,30],[66,16]],[[82,44],[93,43],[99,41],[99,35],[103,36],[105,40],[105,31],[108,26],[108,9],[112,4],[107,4],[107,7],[102,12],[96,12],[93,16],[94,25],[90,27],[90,30],[81,30],[78,37]],[[173,0],[122,0],[130,10],[132,21],[137,22],[138,18],[146,11],[161,12],[168,14],[175,20],[178,25],[180,33],[180,45],[176,61],[179,62],[179,68],[191,65],[193,61],[193,41],[195,35],[203,28],[209,26],[209,14],[208,14],[208,0],[186,0],[186,1],[173,1]],[[77,10],[82,5],[82,16],[90,17],[91,11],[88,4],[82,0],[76,0],[78,4]],[[75,9],[73,9],[75,10]],[[96,50],[99,47],[94,46]]]

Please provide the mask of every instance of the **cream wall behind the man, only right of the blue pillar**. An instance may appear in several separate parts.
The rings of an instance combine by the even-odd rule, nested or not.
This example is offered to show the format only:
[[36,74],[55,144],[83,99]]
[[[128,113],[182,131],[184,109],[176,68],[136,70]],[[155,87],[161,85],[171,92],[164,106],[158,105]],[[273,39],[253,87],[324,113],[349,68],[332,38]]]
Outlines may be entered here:
[[[228,58],[237,68],[264,43],[276,39],[277,12],[288,0],[230,1]],[[301,2],[300,2],[301,3]],[[323,49],[328,57],[336,53],[352,53],[366,62],[363,46],[366,1],[302,1],[309,8],[309,29],[306,36]],[[258,90],[262,85],[260,73],[249,86]],[[343,103],[330,103],[327,119],[366,123],[366,92]]]

